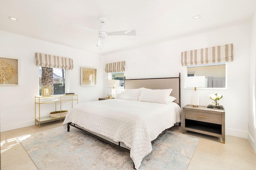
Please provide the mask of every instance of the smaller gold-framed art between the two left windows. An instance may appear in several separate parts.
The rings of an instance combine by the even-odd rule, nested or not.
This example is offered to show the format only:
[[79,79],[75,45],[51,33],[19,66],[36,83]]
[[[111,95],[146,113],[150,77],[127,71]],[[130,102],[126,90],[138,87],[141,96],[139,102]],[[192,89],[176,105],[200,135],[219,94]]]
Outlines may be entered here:
[[97,69],[81,67],[80,68],[80,85],[96,86],[97,85]]

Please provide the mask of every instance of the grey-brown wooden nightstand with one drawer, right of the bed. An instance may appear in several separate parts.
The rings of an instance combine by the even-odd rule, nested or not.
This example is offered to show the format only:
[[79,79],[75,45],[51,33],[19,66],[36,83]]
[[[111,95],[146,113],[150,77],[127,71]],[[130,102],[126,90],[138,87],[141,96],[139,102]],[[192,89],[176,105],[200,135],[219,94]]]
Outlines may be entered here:
[[225,143],[225,109],[186,105],[182,113],[182,133],[187,130],[221,137],[222,142]]

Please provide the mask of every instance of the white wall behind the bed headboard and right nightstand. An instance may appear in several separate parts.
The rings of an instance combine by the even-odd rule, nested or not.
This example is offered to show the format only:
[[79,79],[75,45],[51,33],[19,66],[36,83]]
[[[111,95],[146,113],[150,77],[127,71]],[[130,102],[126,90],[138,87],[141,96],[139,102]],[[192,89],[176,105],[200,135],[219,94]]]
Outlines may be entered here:
[[[126,78],[173,77],[181,73],[181,107],[191,104],[193,90],[184,89],[186,67],[181,64],[181,52],[233,43],[234,61],[227,64],[228,88],[224,90],[198,90],[200,105],[211,104],[209,94],[220,93],[224,97],[220,104],[226,111],[226,134],[247,138],[248,132],[248,82],[250,57],[250,24],[201,33],[104,56],[104,63],[126,61]],[[104,73],[104,94],[107,88]]]

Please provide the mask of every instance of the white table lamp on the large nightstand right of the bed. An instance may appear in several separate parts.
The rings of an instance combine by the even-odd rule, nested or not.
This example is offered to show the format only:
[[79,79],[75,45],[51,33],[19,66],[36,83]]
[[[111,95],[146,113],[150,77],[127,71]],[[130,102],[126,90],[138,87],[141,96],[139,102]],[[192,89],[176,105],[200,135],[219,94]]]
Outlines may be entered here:
[[186,77],[186,87],[193,87],[192,93],[192,106],[199,106],[199,93],[196,90],[197,87],[205,87],[205,76],[190,76]]

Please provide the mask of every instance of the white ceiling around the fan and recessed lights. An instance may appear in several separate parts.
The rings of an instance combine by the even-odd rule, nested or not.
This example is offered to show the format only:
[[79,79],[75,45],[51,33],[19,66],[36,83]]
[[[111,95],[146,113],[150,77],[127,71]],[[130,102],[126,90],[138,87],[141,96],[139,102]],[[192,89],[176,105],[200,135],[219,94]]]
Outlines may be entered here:
[[[255,10],[256,0],[1,0],[0,29],[107,55],[247,23]],[[101,16],[109,32],[136,29],[137,35],[108,36],[100,51]]]

